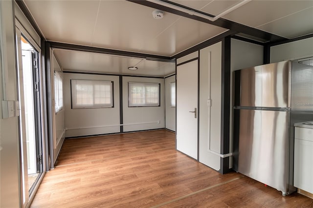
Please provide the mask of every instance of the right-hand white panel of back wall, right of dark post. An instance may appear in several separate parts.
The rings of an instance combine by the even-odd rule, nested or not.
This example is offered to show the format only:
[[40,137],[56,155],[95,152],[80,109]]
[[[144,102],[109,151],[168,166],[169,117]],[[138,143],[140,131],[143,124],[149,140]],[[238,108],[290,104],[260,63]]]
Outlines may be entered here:
[[[128,82],[134,83],[160,83],[160,106],[151,107],[128,107]],[[127,77],[123,76],[123,130],[137,131],[156,128],[165,128],[165,108],[164,108],[164,79]],[[157,124],[157,121],[160,123]],[[125,125],[137,124],[140,125]],[[151,124],[144,124],[151,123]]]

